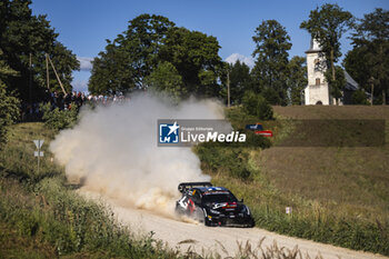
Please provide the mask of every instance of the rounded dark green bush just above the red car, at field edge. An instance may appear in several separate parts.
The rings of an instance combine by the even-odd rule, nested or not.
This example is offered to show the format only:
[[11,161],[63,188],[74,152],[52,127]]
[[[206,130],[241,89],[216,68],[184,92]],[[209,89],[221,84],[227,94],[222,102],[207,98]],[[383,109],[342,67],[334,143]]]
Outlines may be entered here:
[[256,116],[261,120],[271,120],[273,118],[271,106],[261,94],[248,91],[243,96],[242,103],[251,116]]

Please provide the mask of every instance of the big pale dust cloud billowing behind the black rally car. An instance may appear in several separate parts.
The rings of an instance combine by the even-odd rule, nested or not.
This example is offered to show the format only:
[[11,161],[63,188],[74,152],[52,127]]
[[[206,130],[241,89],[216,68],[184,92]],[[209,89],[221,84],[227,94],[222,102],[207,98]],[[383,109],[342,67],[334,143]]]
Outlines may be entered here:
[[81,190],[121,205],[173,215],[177,186],[208,181],[190,148],[157,147],[158,119],[223,119],[213,100],[173,106],[167,98],[139,94],[129,101],[81,110],[80,121],[50,143],[56,161]]

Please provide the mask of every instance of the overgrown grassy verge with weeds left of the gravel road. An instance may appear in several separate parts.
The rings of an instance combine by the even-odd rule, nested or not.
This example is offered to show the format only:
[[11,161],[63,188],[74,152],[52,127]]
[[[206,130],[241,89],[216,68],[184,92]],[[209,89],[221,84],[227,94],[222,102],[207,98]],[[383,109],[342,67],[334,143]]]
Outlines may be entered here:
[[134,237],[112,213],[78,196],[46,150],[37,171],[33,139],[50,141],[42,123],[11,127],[0,152],[2,258],[177,258],[161,241]]

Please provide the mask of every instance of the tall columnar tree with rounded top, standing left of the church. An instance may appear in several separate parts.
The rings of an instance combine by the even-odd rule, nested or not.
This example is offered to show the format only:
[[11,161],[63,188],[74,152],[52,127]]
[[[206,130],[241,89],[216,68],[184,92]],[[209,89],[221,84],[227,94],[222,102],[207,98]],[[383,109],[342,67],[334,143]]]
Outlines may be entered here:
[[251,72],[255,91],[261,92],[269,88],[270,92],[278,94],[271,104],[287,104],[286,77],[290,37],[278,21],[267,20],[256,29],[252,40],[256,42],[252,57],[257,59]]

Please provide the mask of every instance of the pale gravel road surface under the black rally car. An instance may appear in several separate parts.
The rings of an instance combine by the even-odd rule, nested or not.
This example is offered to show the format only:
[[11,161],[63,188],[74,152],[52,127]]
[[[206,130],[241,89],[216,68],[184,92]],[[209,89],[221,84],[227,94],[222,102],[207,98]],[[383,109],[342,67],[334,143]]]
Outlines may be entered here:
[[[90,192],[83,195],[97,197]],[[206,227],[193,220],[160,216],[127,206],[122,207],[114,200],[102,199],[112,209],[117,219],[124,225],[129,225],[131,230],[143,235],[152,231],[154,233],[153,238],[167,242],[171,248],[179,248],[181,251],[186,251],[191,247],[192,250],[200,255],[210,255],[210,252],[216,251],[222,258],[228,256],[233,257],[239,250],[238,243],[246,245],[249,241],[252,247],[257,247],[259,241],[265,238],[262,248],[272,246],[275,241],[279,248],[283,247],[290,250],[298,246],[303,258],[306,258],[306,255],[309,255],[310,258],[321,255],[325,259],[387,258],[380,255],[281,236],[259,228]]]

